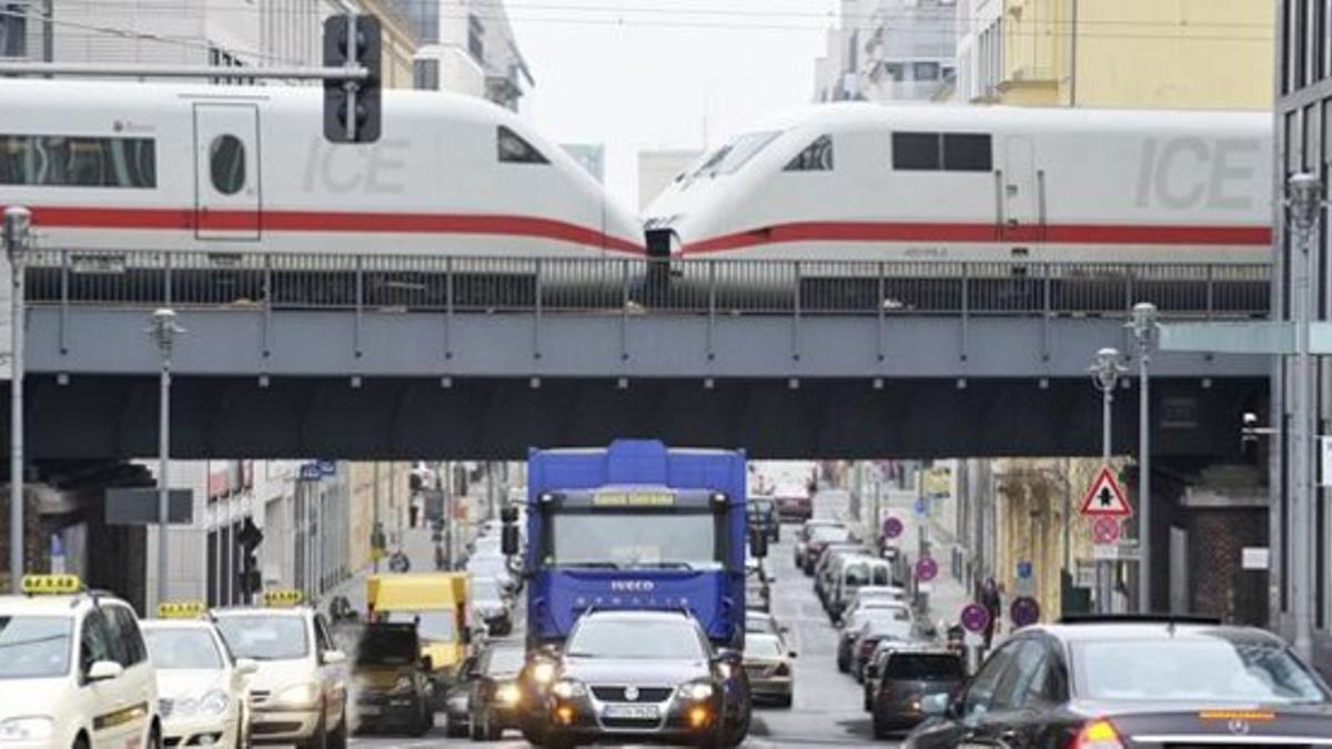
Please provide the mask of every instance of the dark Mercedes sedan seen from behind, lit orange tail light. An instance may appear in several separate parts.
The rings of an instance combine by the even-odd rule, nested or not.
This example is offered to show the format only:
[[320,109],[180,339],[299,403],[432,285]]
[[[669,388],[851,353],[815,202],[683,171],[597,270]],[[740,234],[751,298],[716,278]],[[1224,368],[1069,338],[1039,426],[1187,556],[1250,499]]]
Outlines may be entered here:
[[1332,692],[1260,629],[1114,617],[1019,630],[906,746],[1321,746]]

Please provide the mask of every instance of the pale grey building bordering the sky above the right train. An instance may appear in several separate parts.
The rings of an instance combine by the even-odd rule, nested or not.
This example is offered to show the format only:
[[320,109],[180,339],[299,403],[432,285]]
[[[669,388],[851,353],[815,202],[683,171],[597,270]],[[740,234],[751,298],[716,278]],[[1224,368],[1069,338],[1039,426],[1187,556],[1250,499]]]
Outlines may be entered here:
[[843,0],[815,101],[930,101],[952,89],[956,0]]

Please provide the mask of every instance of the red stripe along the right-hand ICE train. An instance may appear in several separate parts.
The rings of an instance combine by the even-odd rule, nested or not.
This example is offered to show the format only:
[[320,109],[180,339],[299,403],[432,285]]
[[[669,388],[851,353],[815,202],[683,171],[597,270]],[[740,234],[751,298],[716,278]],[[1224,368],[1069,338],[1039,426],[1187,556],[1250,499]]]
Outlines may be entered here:
[[994,224],[802,223],[738,232],[685,247],[685,255],[794,241],[956,241],[1055,244],[1271,245],[1269,227],[1055,224],[999,231]]

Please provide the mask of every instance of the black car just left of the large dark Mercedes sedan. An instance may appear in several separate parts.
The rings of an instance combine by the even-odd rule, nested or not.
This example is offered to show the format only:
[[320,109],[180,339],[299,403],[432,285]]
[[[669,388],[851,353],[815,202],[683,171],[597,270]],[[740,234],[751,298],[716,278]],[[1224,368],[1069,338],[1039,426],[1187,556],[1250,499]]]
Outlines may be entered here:
[[874,737],[887,738],[915,728],[926,717],[923,701],[932,694],[956,697],[966,677],[962,656],[954,650],[934,646],[883,650],[864,674]]

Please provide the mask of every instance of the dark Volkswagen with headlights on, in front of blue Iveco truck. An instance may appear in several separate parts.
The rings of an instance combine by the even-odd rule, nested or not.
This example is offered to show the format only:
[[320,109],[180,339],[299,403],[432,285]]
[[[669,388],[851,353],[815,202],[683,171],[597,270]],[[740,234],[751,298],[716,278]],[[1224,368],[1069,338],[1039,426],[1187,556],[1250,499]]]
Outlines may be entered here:
[[742,660],[714,652],[685,612],[583,614],[557,662],[542,745],[735,746],[751,712]]

